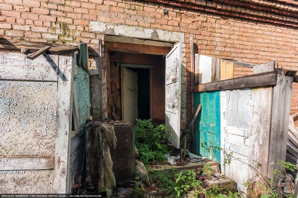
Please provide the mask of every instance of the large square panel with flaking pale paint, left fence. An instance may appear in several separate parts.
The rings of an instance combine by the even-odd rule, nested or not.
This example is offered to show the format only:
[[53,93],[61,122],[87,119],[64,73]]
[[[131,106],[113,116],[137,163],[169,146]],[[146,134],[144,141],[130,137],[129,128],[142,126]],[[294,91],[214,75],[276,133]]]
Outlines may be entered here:
[[0,80],[0,156],[53,156],[56,112],[56,82]]

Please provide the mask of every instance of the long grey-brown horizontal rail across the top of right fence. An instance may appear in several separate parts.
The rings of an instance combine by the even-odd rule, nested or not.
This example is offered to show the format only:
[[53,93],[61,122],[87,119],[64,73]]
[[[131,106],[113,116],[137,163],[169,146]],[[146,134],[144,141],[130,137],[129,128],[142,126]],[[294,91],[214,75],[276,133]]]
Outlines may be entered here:
[[263,72],[260,74],[253,74],[253,75],[242,76],[238,78],[215,81],[211,83],[204,83],[200,85],[191,86],[190,92],[215,91],[215,90],[224,90],[224,89],[275,85],[276,75],[277,75],[277,72],[275,71]]

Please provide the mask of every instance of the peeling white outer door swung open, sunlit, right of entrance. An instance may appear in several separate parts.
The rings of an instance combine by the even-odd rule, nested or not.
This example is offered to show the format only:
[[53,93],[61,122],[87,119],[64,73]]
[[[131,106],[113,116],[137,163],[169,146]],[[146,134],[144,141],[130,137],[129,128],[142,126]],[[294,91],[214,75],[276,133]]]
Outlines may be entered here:
[[168,140],[180,147],[181,42],[166,56],[165,114]]

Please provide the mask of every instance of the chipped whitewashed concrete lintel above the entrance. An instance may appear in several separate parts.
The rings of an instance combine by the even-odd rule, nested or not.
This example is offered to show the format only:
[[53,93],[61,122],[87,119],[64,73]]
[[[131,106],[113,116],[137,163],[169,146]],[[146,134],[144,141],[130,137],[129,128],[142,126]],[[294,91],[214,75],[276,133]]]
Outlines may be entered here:
[[153,28],[91,21],[89,24],[89,29],[90,32],[113,36],[135,37],[140,39],[152,39],[167,42],[185,42],[184,33]]

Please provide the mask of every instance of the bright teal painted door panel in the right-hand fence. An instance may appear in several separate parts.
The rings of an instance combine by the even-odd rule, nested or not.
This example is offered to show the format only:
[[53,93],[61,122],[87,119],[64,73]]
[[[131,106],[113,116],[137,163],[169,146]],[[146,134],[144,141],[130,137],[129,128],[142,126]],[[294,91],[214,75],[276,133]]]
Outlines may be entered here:
[[195,153],[207,157],[208,159],[220,163],[219,151],[207,152],[201,147],[201,143],[206,142],[206,146],[220,147],[220,91],[196,92],[193,94],[194,107],[202,105],[198,117],[194,122],[194,151]]

